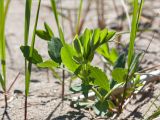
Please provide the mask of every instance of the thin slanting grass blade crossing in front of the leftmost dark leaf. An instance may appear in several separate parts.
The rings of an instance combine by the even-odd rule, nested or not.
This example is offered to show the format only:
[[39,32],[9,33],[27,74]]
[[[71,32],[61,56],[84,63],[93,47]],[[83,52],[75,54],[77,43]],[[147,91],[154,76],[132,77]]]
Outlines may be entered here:
[[35,25],[34,25],[32,42],[31,42],[31,50],[30,50],[30,54],[29,54],[29,57],[31,59],[30,59],[30,61],[28,63],[28,69],[27,69],[27,73],[26,73],[26,83],[25,83],[26,84],[26,89],[25,89],[26,96],[28,96],[28,94],[29,94],[31,69],[32,69],[32,56],[33,56],[33,50],[34,50],[34,44],[35,44],[36,29],[37,29],[37,23],[38,23],[40,5],[41,5],[41,0],[39,0],[39,3],[38,3],[38,9],[37,9],[37,14],[36,14],[36,21],[35,21]]

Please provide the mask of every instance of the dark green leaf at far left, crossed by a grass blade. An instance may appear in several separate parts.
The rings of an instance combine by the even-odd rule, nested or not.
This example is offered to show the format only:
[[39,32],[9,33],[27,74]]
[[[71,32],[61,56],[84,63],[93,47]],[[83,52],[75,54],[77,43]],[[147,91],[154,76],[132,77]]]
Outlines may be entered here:
[[[31,58],[29,57],[29,54],[30,54],[31,47],[29,47],[29,46],[21,46],[20,49],[21,49],[21,51],[23,53],[23,56],[28,61],[30,61]],[[42,56],[38,53],[38,51],[36,49],[33,49],[32,61],[31,62],[34,63],[34,64],[43,62]]]

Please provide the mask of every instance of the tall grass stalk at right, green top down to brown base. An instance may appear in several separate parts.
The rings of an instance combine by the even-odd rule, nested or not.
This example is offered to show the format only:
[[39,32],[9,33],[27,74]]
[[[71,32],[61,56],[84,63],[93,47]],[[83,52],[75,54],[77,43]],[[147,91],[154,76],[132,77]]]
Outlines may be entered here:
[[131,32],[130,32],[130,43],[129,43],[129,49],[128,49],[128,64],[127,64],[128,65],[128,74],[126,77],[126,82],[125,82],[124,92],[123,92],[123,99],[122,99],[120,109],[122,109],[122,105],[124,104],[127,84],[129,82],[130,73],[133,70],[133,64],[135,64],[134,69],[137,69],[138,68],[137,65],[139,64],[136,62],[138,62],[138,59],[140,56],[135,53],[134,44],[135,44],[136,34],[137,34],[137,30],[138,30],[138,24],[139,24],[144,0],[141,0],[140,4],[138,2],[139,2],[138,0],[134,0],[134,9],[133,9],[132,25],[131,25]]

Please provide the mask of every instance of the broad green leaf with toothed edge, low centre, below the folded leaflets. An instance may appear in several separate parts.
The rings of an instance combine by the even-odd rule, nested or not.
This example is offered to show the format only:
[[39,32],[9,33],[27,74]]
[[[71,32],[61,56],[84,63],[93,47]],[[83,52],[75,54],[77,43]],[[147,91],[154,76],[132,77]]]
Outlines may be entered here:
[[92,84],[98,85],[99,87],[109,91],[110,85],[109,80],[104,72],[97,67],[89,67],[89,78],[93,81]]

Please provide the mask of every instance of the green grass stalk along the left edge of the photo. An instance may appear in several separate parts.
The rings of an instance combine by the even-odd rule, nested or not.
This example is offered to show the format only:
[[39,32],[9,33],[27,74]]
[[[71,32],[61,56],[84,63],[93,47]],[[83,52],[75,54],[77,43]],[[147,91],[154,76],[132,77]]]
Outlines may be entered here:
[[5,38],[5,22],[6,22],[6,15],[8,11],[10,0],[5,2],[3,0],[0,1],[0,60],[2,71],[0,72],[0,84],[2,90],[4,92],[5,98],[5,111],[4,114],[7,114],[7,78],[6,78],[6,38]]

